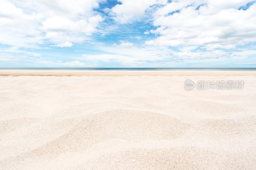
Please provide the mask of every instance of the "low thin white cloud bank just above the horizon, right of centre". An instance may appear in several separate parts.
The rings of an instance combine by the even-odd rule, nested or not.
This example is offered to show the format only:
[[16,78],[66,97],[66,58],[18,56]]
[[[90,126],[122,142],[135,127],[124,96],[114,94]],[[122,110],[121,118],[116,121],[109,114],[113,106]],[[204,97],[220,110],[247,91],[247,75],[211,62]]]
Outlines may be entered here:
[[[190,51],[190,48],[184,48],[182,51],[173,51],[167,46],[131,46],[125,50],[123,48],[104,46],[99,46],[98,48],[104,53],[111,54],[83,55],[84,58],[79,59],[94,61],[94,63],[99,61],[118,62],[124,67],[184,67],[184,64],[188,63],[191,63],[191,65],[186,65],[187,67],[208,67],[211,65],[212,67],[218,67],[218,64],[225,66],[228,62],[236,63],[239,61],[239,63],[242,63],[244,62],[242,60],[246,60],[247,56],[256,55],[255,50],[245,49],[241,52],[227,52],[216,49],[211,51]],[[223,63],[218,62],[218,60],[223,61]],[[211,64],[213,61],[215,63]],[[204,62],[208,63],[208,65],[205,65]]]

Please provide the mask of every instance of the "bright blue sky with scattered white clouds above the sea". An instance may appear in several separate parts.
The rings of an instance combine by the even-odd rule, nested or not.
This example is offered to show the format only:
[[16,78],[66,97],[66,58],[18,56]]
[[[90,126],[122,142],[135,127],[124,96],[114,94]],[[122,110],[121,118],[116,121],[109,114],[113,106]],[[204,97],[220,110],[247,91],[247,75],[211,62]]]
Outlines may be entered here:
[[0,67],[256,67],[256,3],[0,0]]

